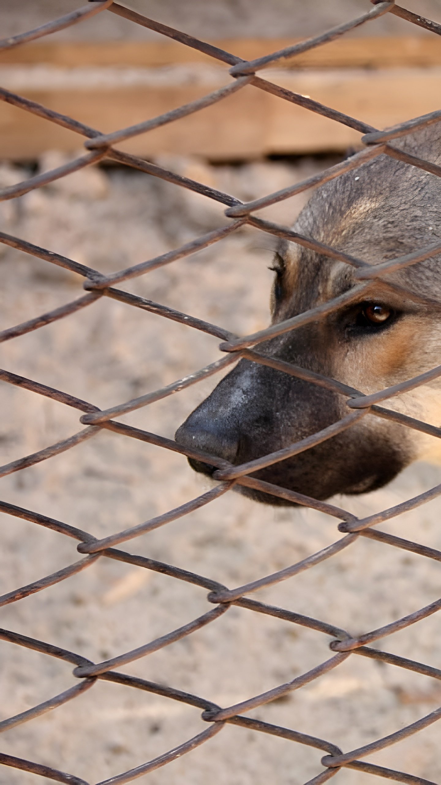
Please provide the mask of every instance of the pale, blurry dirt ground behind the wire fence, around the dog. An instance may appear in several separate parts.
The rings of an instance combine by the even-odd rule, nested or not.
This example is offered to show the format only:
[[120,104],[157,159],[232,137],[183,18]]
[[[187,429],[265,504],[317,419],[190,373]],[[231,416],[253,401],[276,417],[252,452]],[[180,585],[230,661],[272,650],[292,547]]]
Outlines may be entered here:
[[[40,167],[55,166],[48,154]],[[167,160],[190,177],[253,199],[301,179],[329,160],[210,167]],[[0,186],[24,170],[2,166]],[[290,222],[304,197],[268,210]],[[103,272],[126,267],[221,224],[221,206],[124,170],[87,170],[0,206],[2,228]],[[122,288],[239,334],[268,323],[272,241],[244,229],[221,243]],[[46,262],[0,246],[0,329],[82,294],[82,281]],[[2,367],[108,407],[166,385],[220,356],[217,339],[108,298],[74,316],[2,344]],[[123,418],[173,436],[217,382],[213,378]],[[53,444],[78,430],[78,412],[0,385],[0,462]],[[337,500],[363,516],[441,481],[441,468],[417,464],[387,488]],[[178,506],[209,487],[185,459],[113,433],[4,477],[0,498],[104,536]],[[381,527],[441,548],[439,502]],[[210,576],[228,586],[267,575],[337,539],[336,521],[301,509],[258,506],[233,493],[126,550]],[[2,515],[2,593],[77,560],[75,541]],[[439,565],[359,539],[348,550],[256,598],[360,633],[439,596]],[[93,660],[126,652],[211,608],[206,592],[141,568],[101,559],[78,575],[2,608],[2,627]],[[322,633],[245,609],[122,670],[195,692],[221,706],[289,681],[329,656]],[[437,615],[379,644],[439,666]],[[75,684],[71,666],[0,641],[0,719]],[[251,716],[321,736],[350,750],[423,717],[441,703],[433,680],[353,655],[330,674]],[[89,692],[4,733],[1,749],[96,783],[155,758],[205,728],[197,709],[131,688],[98,682]],[[191,754],[140,779],[152,785],[301,785],[322,770],[318,750],[234,726]],[[439,728],[432,725],[372,762],[441,781]],[[341,771],[341,785],[375,778]],[[336,781],[337,781],[336,780]],[[34,776],[0,767],[0,785]],[[42,780],[38,780],[42,781]],[[379,782],[380,780],[378,780]],[[45,780],[46,782],[46,780]]]

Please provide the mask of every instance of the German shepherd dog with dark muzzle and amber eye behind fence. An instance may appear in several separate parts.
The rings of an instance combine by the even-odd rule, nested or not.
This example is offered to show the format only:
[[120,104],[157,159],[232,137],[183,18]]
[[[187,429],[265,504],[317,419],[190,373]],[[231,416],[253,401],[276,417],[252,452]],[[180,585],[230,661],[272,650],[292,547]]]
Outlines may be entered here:
[[[441,160],[440,124],[392,142]],[[441,182],[388,155],[317,188],[296,232],[376,265],[441,239]],[[354,268],[285,240],[273,263],[272,323],[307,311],[359,284]],[[388,282],[405,287],[388,287]],[[260,352],[369,394],[439,364],[441,254],[372,279],[359,301],[259,345]],[[343,418],[344,396],[250,360],[241,360],[177,430],[177,441],[240,464],[287,447]],[[386,400],[385,407],[441,423],[441,381]],[[374,491],[417,458],[441,455],[441,440],[367,414],[343,433],[253,476],[316,499]],[[199,472],[213,466],[190,460]],[[236,486],[237,487],[237,486]],[[260,502],[282,498],[247,487]]]

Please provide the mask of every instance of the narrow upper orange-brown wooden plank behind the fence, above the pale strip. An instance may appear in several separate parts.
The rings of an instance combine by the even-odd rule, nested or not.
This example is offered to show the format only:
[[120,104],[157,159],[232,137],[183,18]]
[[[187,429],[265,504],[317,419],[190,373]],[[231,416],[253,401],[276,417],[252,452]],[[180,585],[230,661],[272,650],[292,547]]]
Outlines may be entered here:
[[[292,38],[222,38],[212,42],[246,60],[275,52]],[[157,68],[178,63],[215,63],[195,49],[163,38],[159,41],[53,42],[17,46],[2,52],[0,63],[48,63],[75,66]],[[286,68],[394,68],[441,65],[439,38],[431,35],[339,38],[326,46],[280,63]]]

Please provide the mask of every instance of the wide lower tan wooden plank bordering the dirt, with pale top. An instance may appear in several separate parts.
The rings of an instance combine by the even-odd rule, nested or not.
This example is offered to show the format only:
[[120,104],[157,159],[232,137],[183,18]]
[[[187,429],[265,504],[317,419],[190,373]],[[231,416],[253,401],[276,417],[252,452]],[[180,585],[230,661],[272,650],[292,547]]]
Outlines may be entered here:
[[[183,80],[179,78],[182,69],[178,66],[169,69],[168,81],[165,77],[151,78],[151,71],[145,71],[143,78],[139,70],[133,71],[130,82],[130,72],[117,69],[106,80],[107,69],[89,69],[80,79],[75,70],[43,68],[38,82],[35,69],[31,68],[33,77],[27,85],[27,69],[24,73],[19,69],[20,84],[16,75],[13,78],[14,68],[10,69],[9,81],[7,69],[2,70],[1,81],[7,89],[104,132],[160,115],[227,81],[222,68],[213,69],[210,80],[205,78],[202,83],[196,79]],[[438,109],[441,93],[441,68],[279,70],[268,71],[269,78],[376,128]],[[231,160],[268,154],[344,151],[359,144],[359,138],[359,133],[340,123],[249,86],[195,115],[134,137],[121,144],[121,148],[147,158],[177,153]],[[35,159],[51,148],[72,150],[81,145],[82,137],[75,133],[0,103],[3,158]]]

